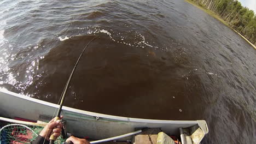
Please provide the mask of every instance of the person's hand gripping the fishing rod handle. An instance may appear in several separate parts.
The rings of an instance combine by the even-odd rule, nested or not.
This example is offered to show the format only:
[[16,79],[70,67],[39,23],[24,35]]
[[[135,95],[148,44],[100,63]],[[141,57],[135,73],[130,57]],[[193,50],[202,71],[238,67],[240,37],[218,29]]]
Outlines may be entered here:
[[[62,118],[63,116],[60,116],[60,119]],[[61,128],[63,127],[63,125],[60,122],[60,119],[56,122],[54,122],[54,119],[51,119],[51,121],[45,125],[44,129],[39,134],[40,136],[44,137],[46,140],[50,139],[51,131],[54,132],[54,136],[56,137],[61,135],[61,130],[62,130]]]

